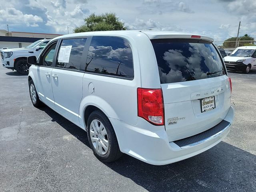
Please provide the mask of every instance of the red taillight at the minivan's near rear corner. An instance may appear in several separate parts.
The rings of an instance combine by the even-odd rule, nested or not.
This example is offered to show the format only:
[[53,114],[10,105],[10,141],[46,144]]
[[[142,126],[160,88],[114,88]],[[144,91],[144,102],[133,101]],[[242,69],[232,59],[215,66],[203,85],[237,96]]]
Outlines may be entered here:
[[154,125],[164,125],[162,89],[138,88],[138,116]]

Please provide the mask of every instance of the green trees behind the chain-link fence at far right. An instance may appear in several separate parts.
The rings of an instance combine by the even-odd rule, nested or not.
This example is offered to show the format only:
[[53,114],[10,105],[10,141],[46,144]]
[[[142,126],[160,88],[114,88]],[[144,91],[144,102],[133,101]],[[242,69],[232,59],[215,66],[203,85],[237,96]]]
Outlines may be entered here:
[[[246,46],[246,44],[254,45],[254,38],[250,35],[245,34],[244,36],[238,37],[239,46]],[[228,38],[223,42],[224,48],[236,48],[236,37]]]

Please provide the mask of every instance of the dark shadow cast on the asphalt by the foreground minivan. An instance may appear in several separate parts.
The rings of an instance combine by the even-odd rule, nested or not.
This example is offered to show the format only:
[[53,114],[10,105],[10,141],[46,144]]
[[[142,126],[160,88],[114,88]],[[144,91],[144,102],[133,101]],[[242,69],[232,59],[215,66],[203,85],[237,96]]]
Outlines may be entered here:
[[[84,130],[48,107],[41,110],[90,147]],[[104,164],[150,192],[256,191],[256,156],[225,142],[164,166],[150,165],[126,154],[117,162]]]

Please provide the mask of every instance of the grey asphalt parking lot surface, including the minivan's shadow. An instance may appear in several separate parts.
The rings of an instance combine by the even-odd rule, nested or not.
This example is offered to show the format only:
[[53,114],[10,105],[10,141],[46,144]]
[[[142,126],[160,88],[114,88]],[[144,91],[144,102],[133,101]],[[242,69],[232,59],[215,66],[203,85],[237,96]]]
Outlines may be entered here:
[[124,155],[104,164],[86,132],[34,108],[27,76],[0,67],[0,191],[256,191],[256,71],[229,73],[235,121],[210,150],[165,166]]

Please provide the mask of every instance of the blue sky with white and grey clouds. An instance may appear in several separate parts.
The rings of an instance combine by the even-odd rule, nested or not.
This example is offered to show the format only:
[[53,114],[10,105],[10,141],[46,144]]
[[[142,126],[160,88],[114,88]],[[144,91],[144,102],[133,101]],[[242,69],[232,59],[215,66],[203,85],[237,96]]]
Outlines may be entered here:
[[256,0],[1,0],[0,29],[67,34],[91,13],[114,12],[130,30],[171,30],[215,41],[256,37]]

